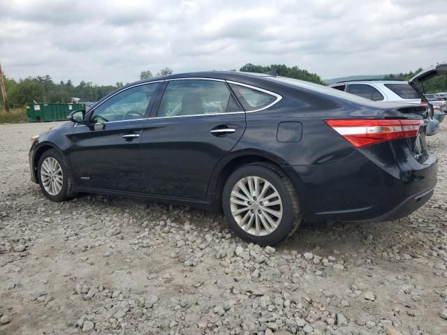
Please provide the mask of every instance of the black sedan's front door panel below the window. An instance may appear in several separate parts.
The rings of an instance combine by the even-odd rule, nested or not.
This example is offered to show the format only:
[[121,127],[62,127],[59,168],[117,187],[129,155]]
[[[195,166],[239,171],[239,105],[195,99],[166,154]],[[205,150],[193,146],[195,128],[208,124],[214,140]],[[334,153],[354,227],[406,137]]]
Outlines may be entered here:
[[[146,119],[110,122],[96,126],[96,130],[76,127],[70,153],[75,185],[140,191],[140,135],[145,122]],[[132,137],[123,138],[126,135]]]

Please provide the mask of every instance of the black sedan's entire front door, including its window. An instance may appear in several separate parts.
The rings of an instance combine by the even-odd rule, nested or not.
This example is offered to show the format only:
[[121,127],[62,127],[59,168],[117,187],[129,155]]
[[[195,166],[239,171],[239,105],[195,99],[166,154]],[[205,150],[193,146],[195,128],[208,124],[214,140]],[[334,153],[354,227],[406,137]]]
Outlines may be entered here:
[[76,125],[69,155],[75,185],[112,191],[141,191],[140,135],[159,83],[119,91]]

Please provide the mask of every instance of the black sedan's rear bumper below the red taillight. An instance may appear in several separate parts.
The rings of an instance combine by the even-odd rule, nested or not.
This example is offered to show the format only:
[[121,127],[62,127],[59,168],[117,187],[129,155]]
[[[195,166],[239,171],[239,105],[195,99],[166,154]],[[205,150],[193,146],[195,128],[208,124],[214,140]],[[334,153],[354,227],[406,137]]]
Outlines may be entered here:
[[379,166],[356,150],[335,164],[283,168],[298,191],[304,220],[311,222],[402,218],[427,202],[437,183],[435,155],[423,164],[413,159]]

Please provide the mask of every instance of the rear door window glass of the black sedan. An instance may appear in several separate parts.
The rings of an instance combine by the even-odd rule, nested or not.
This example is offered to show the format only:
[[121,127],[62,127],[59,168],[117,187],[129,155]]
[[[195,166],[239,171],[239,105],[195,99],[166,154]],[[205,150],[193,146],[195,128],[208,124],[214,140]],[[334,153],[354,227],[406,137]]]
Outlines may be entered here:
[[157,117],[240,112],[224,82],[214,80],[173,80],[161,99]]

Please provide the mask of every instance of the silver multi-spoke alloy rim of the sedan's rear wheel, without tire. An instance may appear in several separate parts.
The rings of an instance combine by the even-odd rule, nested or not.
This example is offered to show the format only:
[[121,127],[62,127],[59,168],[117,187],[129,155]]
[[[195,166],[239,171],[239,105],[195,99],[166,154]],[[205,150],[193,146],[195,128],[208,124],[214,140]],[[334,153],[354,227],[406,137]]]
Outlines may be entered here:
[[230,195],[230,210],[237,225],[255,236],[274,232],[283,214],[277,189],[268,180],[256,176],[237,181]]

